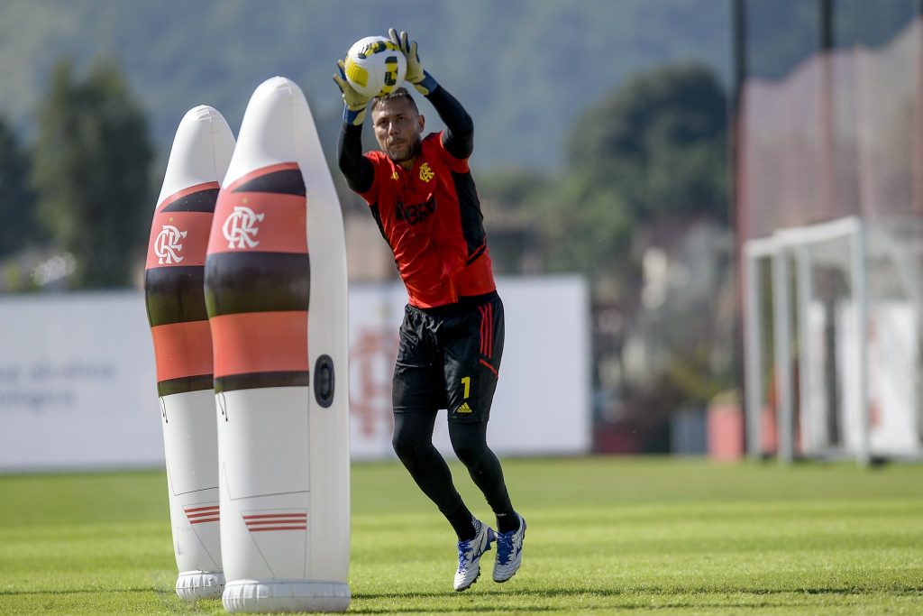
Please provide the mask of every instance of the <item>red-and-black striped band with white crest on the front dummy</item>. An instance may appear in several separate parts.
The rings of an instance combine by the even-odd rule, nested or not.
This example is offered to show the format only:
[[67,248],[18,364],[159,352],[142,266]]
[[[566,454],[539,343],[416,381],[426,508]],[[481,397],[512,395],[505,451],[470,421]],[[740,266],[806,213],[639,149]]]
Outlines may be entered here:
[[305,229],[305,182],[295,163],[222,189],[205,274],[215,393],[308,386]]

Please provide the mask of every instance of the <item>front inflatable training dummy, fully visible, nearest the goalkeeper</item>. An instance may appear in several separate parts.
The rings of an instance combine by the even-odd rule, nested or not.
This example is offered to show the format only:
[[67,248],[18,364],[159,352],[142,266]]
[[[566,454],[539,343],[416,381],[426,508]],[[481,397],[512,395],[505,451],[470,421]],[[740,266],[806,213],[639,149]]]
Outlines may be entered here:
[[254,92],[206,260],[231,611],[346,610],[349,418],[340,203],[303,92]]

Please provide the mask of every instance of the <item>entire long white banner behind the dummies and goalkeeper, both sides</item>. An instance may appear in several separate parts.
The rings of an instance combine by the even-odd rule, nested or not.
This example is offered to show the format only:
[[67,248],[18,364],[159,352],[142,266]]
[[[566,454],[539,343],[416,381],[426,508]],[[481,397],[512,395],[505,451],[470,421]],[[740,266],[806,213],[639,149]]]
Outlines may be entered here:
[[[506,341],[488,442],[500,455],[588,453],[590,308],[576,276],[500,278]],[[350,289],[351,453],[393,457],[391,371],[402,284]],[[138,292],[0,296],[0,471],[163,464]],[[434,442],[451,455],[445,411]]]

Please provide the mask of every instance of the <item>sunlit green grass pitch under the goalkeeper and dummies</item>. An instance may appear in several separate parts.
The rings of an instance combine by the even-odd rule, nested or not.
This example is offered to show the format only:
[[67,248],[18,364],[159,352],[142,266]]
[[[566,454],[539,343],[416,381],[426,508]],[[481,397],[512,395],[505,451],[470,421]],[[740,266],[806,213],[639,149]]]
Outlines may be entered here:
[[[350,611],[923,613],[923,465],[505,470],[529,521],[520,573],[495,584],[491,561],[455,593],[454,537],[435,508],[402,467],[354,465]],[[162,472],[0,477],[0,612],[223,613],[176,598],[175,574]]]

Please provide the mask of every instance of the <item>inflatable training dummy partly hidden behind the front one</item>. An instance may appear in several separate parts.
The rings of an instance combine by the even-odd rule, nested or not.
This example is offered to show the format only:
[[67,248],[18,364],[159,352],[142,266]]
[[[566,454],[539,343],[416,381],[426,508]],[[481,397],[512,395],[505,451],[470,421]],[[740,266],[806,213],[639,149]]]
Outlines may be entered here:
[[164,458],[181,598],[220,597],[224,586],[218,430],[211,331],[203,282],[211,220],[234,135],[200,105],[176,130],[150,227],[144,274],[154,343]]

